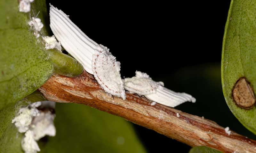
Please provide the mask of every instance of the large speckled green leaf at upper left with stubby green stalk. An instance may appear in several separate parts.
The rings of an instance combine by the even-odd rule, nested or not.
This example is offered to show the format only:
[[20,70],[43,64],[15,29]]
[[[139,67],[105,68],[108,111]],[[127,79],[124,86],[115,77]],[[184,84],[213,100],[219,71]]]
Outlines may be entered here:
[[[19,12],[19,1],[0,1],[0,110],[14,105],[43,85],[53,73],[73,77],[83,71],[75,59],[56,50],[45,50],[28,21],[29,13]],[[42,36],[49,33],[44,0],[31,3],[31,16],[41,18]],[[48,24],[47,24],[48,23]]]

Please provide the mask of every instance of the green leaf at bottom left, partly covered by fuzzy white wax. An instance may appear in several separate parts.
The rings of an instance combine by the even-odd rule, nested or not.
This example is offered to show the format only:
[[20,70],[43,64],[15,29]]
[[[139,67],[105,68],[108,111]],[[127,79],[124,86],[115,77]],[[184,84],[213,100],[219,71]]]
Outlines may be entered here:
[[10,105],[0,111],[0,152],[23,153],[20,144],[23,134],[18,132],[18,129],[12,123],[12,119],[15,117],[15,114],[19,112],[21,107],[44,100],[43,95],[39,91],[36,91],[16,104]]

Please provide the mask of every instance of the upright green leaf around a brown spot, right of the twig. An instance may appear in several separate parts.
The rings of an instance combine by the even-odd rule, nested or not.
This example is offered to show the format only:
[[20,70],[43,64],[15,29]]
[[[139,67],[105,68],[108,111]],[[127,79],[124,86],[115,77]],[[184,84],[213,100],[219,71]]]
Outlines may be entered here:
[[237,80],[246,77],[256,87],[256,4],[253,0],[232,0],[222,46],[221,79],[223,94],[231,112],[256,134],[256,109],[236,106],[232,98]]

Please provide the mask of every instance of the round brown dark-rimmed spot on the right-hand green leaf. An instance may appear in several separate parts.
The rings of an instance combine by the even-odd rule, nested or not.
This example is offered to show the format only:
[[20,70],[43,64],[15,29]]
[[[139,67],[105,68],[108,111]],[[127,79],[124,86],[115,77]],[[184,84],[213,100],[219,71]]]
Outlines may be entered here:
[[251,109],[254,106],[254,92],[250,82],[245,77],[241,77],[236,82],[233,89],[233,100],[237,106],[244,109]]

